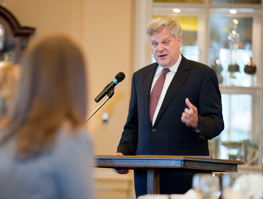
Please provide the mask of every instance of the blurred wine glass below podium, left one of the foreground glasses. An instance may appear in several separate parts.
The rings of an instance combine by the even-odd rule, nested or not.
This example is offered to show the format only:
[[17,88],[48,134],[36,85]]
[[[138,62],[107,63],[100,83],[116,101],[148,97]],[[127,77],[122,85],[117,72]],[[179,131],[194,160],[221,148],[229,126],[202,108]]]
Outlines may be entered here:
[[198,173],[193,175],[192,188],[198,196],[206,199],[218,199],[221,195],[220,181],[211,173]]

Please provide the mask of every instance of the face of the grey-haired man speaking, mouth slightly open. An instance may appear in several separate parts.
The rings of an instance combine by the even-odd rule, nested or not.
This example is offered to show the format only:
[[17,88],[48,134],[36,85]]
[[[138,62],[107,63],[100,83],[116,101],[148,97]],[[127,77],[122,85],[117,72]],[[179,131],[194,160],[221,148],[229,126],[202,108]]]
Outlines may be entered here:
[[161,32],[150,36],[150,45],[156,62],[166,69],[177,62],[182,47],[182,37],[175,39],[171,31],[164,28]]

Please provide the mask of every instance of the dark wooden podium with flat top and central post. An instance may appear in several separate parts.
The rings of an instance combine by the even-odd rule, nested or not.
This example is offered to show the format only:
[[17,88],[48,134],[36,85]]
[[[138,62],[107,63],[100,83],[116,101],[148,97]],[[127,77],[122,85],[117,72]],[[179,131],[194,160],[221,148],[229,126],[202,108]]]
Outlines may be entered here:
[[160,170],[194,172],[238,172],[237,160],[213,159],[210,156],[95,156],[95,167],[147,169],[147,193],[160,193]]

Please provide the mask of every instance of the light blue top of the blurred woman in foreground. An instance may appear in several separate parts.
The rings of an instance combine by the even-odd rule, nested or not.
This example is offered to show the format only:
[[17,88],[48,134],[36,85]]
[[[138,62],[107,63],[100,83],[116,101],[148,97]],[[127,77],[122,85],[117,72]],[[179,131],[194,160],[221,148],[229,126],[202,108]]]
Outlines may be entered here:
[[0,147],[0,198],[94,199],[91,140],[84,129],[64,124],[50,153],[15,161],[15,140]]

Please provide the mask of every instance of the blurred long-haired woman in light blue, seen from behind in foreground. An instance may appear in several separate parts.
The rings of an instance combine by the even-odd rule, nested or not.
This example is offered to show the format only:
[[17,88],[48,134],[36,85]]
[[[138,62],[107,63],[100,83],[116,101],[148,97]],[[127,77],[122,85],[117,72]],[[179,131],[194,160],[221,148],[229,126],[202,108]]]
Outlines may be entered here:
[[15,109],[0,132],[0,198],[94,198],[79,47],[52,35],[28,47]]

